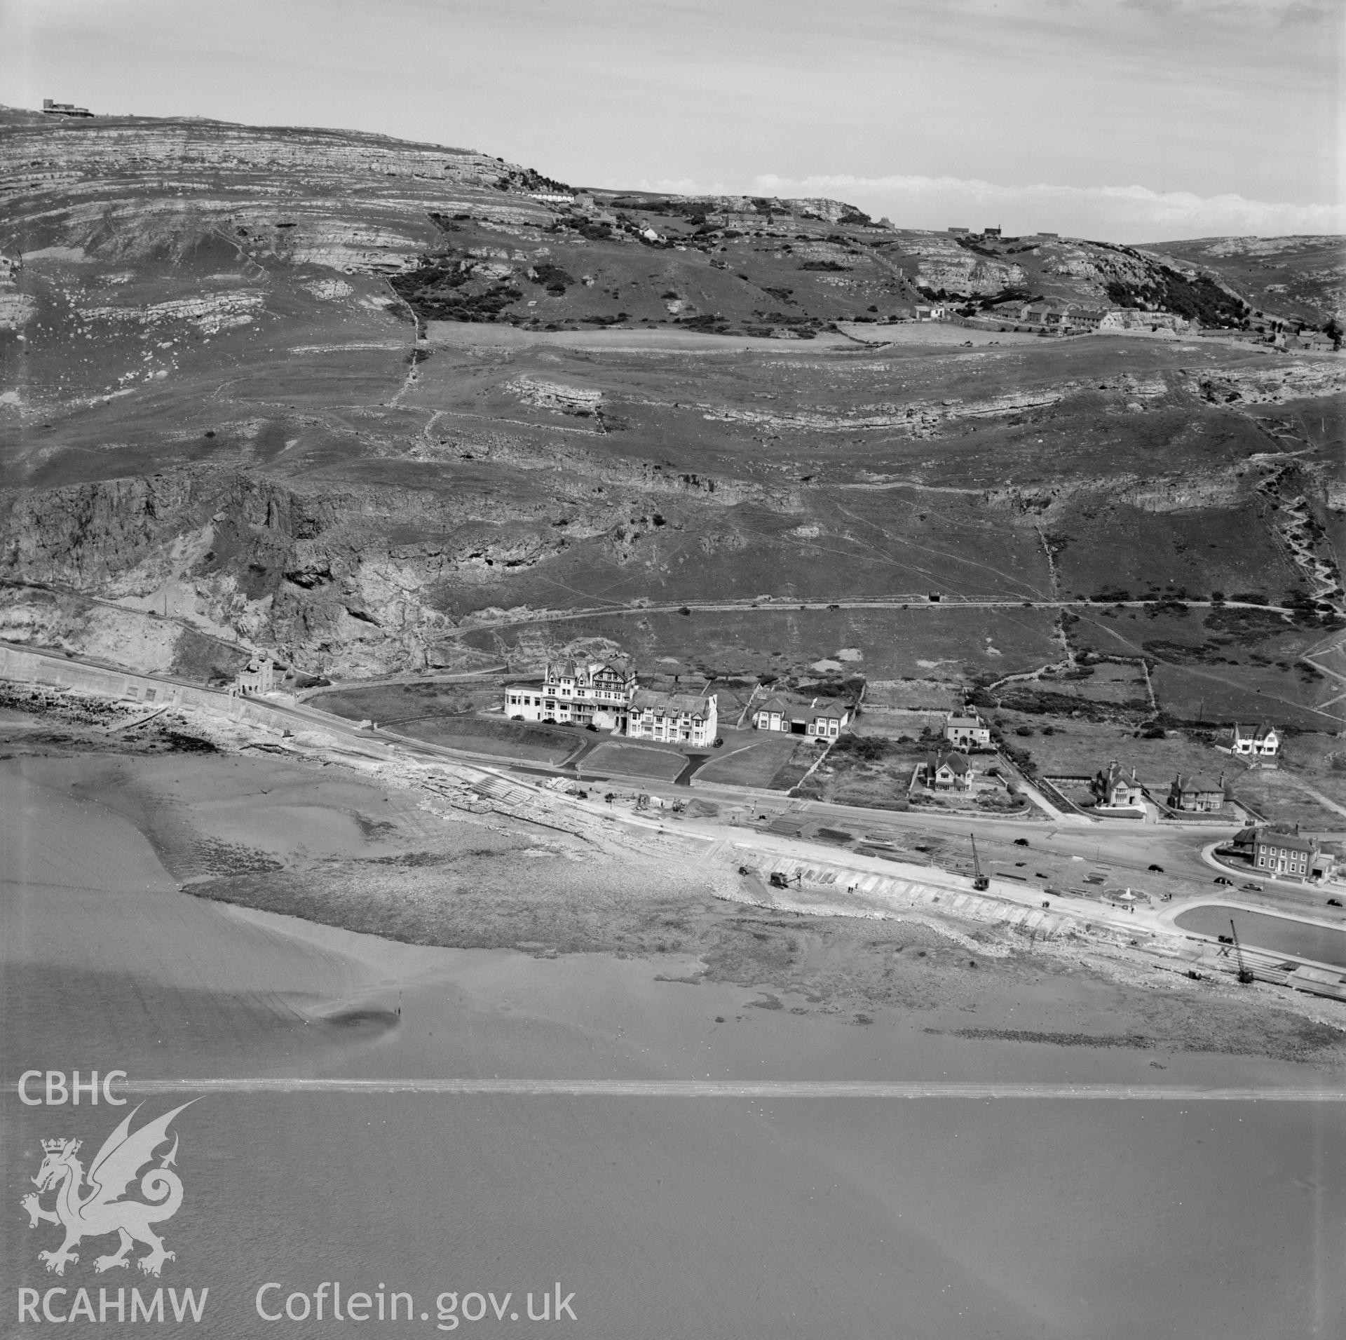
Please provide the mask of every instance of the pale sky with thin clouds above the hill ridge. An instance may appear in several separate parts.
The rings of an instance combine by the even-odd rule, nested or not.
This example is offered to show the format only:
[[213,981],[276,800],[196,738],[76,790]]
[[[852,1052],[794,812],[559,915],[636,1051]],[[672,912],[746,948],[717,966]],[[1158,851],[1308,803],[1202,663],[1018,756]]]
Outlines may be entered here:
[[1346,232],[1346,0],[0,0],[0,101],[909,228]]

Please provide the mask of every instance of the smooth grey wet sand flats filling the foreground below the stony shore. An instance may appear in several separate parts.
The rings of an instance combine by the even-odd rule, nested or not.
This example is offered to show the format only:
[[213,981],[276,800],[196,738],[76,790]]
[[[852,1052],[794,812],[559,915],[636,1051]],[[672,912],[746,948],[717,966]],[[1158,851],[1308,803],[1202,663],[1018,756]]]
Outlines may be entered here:
[[[180,776],[194,785],[215,780],[217,839],[248,831],[232,762],[192,769]],[[120,813],[78,799],[78,773],[0,762],[7,1080],[118,1067],[133,1079],[1341,1083],[1257,1056],[1015,1040],[1117,1033],[1117,989],[1084,976],[1063,990],[987,974],[976,995],[960,986],[860,1022],[707,980],[686,955],[443,949],[206,901],[178,892],[144,836],[164,848],[178,820],[125,788],[106,797]],[[357,840],[382,850],[377,820],[354,819],[369,788],[322,776],[314,804],[284,796],[284,823],[257,842],[315,859]],[[4,1103],[11,1205],[40,1138],[101,1141],[113,1125],[102,1107]],[[1346,1328],[1341,1104],[245,1092],[202,1099],[175,1130],[187,1191],[164,1226],[178,1259],[160,1283],[210,1287],[198,1327],[210,1335],[265,1332],[253,1294],[267,1281],[284,1297],[324,1279],[406,1290],[417,1314],[441,1290],[510,1290],[517,1306],[559,1279],[575,1293],[572,1333],[614,1340]],[[36,1251],[55,1230],[30,1232],[17,1211],[0,1221],[15,1286],[52,1283]],[[140,1275],[94,1275],[109,1246],[85,1246],[61,1283],[144,1292]],[[460,1329],[474,1325],[529,1329]],[[433,1320],[366,1331],[436,1333]]]

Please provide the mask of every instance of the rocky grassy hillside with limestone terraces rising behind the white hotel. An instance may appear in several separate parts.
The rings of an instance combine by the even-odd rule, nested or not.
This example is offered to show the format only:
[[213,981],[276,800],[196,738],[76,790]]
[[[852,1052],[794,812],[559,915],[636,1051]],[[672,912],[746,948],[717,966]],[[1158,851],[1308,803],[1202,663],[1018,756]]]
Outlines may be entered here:
[[[596,637],[707,673],[972,681],[1061,655],[1054,602],[1342,610],[1343,368],[1226,341],[1241,299],[1186,244],[584,193],[346,132],[0,123],[0,576],[338,676]],[[894,321],[941,292],[1214,334]],[[7,628],[36,626],[24,590]],[[1145,641],[1187,676],[1162,684],[1202,669]],[[1219,675],[1233,700],[1265,671]]]

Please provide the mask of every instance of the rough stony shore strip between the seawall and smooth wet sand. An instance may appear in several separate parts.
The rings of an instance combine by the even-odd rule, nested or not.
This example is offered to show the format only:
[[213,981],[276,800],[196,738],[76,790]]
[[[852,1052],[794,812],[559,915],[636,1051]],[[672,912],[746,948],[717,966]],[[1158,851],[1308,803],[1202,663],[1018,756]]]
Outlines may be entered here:
[[[736,873],[738,850],[708,850],[692,834],[579,812],[545,828],[502,809],[474,813],[455,808],[441,782],[427,786],[419,769],[355,768],[312,746],[258,754],[245,726],[178,725],[221,751],[137,753],[128,741],[82,762],[34,756],[26,766],[55,780],[86,774],[96,760],[104,780],[85,777],[79,793],[127,813],[180,894],[237,917],[295,917],[314,943],[377,937],[381,948],[366,949],[376,959],[596,955],[656,967],[670,983],[755,990],[765,1009],[865,1019],[937,1010],[969,991],[1050,982],[1071,998],[1105,983],[1128,995],[1156,1046],[1346,1064],[1346,1009],[1335,1002],[1189,982],[1124,941],[1043,940],[929,905],[876,913],[825,896],[782,905],[779,890],[767,897],[760,881]],[[141,733],[156,726],[176,729],[160,718]],[[1151,1010],[1147,999],[1171,1007]]]

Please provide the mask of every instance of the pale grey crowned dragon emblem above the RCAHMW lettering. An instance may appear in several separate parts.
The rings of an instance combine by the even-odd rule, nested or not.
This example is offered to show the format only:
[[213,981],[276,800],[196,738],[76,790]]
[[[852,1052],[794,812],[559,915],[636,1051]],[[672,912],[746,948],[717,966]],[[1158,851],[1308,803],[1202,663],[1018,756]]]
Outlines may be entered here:
[[[195,1099],[192,1099],[195,1102]],[[129,1266],[127,1259],[132,1246],[144,1243],[149,1251],[137,1258],[136,1265],[147,1275],[157,1275],[166,1261],[174,1261],[175,1252],[164,1248],[151,1224],[172,1219],[182,1204],[182,1178],[170,1166],[178,1154],[178,1137],[174,1135],[172,1149],[140,1178],[140,1195],[145,1200],[121,1200],[127,1186],[135,1180],[145,1164],[155,1157],[155,1150],[168,1139],[168,1123],[191,1103],[183,1103],[156,1120],[147,1122],[132,1133],[131,1119],[140,1111],[133,1107],[117,1129],[102,1142],[93,1164],[89,1166],[85,1185],[83,1164],[75,1157],[81,1142],[77,1139],[44,1139],[42,1142],[42,1168],[32,1184],[38,1192],[28,1192],[20,1204],[28,1211],[28,1227],[39,1223],[61,1224],[66,1240],[55,1251],[42,1251],[38,1259],[47,1270],[58,1275],[66,1273],[66,1265],[79,1259],[70,1248],[83,1238],[102,1238],[118,1234],[121,1244],[114,1252],[98,1257],[93,1266],[100,1274],[113,1266]],[[55,1189],[55,1209],[43,1209],[40,1196]],[[147,1204],[148,1201],[148,1204]]]

